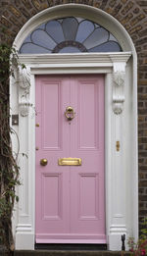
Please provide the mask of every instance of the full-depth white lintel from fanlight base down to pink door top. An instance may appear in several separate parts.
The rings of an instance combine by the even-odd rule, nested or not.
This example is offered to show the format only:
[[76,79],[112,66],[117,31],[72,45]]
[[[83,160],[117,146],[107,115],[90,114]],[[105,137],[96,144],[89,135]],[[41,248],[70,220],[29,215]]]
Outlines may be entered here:
[[[83,53],[83,54],[46,54],[19,55],[20,62],[31,69],[31,74],[88,74],[111,72],[114,60],[118,56],[118,63],[125,63],[131,56],[130,52],[122,53]],[[117,61],[115,61],[117,63]],[[118,65],[117,63],[117,65]]]

